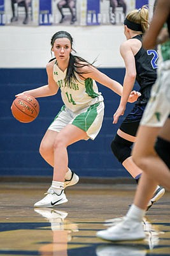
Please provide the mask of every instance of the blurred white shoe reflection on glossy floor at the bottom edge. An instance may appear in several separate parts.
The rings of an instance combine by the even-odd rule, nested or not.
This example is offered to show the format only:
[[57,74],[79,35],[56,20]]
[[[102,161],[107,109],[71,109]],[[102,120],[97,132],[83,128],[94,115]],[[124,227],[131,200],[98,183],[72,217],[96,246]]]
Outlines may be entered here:
[[97,256],[145,256],[147,251],[138,246],[129,246],[122,244],[107,244],[98,246],[96,249]]

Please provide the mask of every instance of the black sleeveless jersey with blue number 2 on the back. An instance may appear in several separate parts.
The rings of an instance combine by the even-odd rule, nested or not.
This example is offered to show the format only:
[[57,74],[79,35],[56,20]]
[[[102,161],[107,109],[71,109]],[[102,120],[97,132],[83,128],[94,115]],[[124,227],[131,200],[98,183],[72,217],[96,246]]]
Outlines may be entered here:
[[[142,42],[142,35],[134,36]],[[138,102],[146,104],[150,98],[150,90],[157,79],[158,53],[155,49],[145,50],[143,47],[134,56],[136,63],[136,81],[140,86],[141,97]]]

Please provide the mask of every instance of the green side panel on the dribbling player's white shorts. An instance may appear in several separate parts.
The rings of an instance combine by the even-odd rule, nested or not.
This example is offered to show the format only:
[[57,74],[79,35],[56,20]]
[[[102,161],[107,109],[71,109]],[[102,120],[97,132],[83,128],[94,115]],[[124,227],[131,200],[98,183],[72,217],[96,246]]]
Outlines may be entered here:
[[96,119],[97,107],[99,106],[99,104],[100,102],[90,106],[90,108],[88,108],[85,113],[81,113],[80,115],[76,116],[72,124],[87,132],[87,130]]

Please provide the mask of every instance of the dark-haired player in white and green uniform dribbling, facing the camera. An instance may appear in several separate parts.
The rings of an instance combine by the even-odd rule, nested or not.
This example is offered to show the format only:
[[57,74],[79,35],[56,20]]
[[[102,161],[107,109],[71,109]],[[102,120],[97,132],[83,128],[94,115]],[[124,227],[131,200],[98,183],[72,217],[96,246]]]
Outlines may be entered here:
[[[55,95],[60,88],[64,102],[39,148],[41,156],[53,166],[53,181],[45,198],[36,202],[35,207],[53,207],[67,202],[64,189],[78,182],[78,175],[68,168],[67,147],[76,141],[94,140],[101,129],[104,103],[95,81],[122,95],[121,84],[71,53],[73,38],[69,33],[55,33],[51,44],[55,58],[46,66],[48,84],[24,92],[46,97]],[[132,92],[129,100],[133,102],[138,97],[138,92]]]

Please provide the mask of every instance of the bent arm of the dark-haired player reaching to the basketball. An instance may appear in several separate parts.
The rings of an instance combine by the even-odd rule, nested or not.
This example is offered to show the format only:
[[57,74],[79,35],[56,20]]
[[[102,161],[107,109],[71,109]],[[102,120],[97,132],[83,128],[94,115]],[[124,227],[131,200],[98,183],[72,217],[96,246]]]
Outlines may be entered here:
[[48,75],[48,84],[38,87],[36,89],[32,89],[32,90],[28,90],[28,91],[19,93],[15,96],[18,97],[21,94],[29,94],[29,95],[32,95],[34,98],[39,98],[39,97],[47,97],[47,96],[55,95],[57,93],[57,91],[59,90],[59,86],[53,80],[53,64],[52,64],[52,62],[50,62],[46,65],[46,72]]

